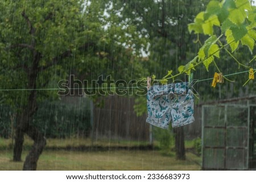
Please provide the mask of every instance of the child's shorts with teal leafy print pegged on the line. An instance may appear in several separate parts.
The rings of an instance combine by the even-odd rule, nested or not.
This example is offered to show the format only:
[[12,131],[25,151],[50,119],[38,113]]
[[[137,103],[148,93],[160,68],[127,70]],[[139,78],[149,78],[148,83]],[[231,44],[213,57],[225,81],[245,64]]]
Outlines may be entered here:
[[191,124],[193,117],[193,92],[188,83],[155,85],[147,92],[147,122],[163,129]]

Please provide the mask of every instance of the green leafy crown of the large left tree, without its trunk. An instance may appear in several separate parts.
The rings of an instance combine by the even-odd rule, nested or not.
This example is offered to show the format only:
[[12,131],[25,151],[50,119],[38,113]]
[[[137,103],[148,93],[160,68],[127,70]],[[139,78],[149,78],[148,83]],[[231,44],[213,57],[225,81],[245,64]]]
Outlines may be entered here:
[[[86,7],[80,0],[1,1],[1,90],[31,89],[28,76],[35,70],[35,54],[38,89],[56,88],[69,74],[88,80],[87,87],[94,86],[90,81],[100,75],[129,82],[147,74],[141,55],[146,38],[109,6],[103,0]],[[1,102],[26,107],[29,93],[1,91]],[[38,91],[36,95],[37,101],[56,98],[56,91]]]

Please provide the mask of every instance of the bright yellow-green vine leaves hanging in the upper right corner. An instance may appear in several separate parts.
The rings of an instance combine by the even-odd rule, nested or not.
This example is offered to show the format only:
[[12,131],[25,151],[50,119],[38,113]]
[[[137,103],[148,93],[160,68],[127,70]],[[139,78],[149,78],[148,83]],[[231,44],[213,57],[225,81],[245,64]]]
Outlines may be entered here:
[[[199,59],[194,67],[203,63],[208,71],[214,57],[220,58],[220,49],[224,48],[228,52],[225,48],[226,45],[230,46],[232,53],[240,43],[246,45],[252,52],[256,40],[255,10],[256,7],[251,6],[247,0],[229,0],[221,3],[210,1],[207,9],[197,14],[194,23],[188,24],[189,32],[210,36],[201,46],[198,52]],[[216,30],[214,31],[214,29]],[[226,36],[225,39],[221,38],[222,35]],[[234,59],[236,60],[236,58]],[[238,64],[240,63],[238,62]],[[191,64],[188,63],[188,65]],[[187,68],[192,69],[193,67],[187,66]],[[187,70],[180,71],[180,73],[184,72]]]

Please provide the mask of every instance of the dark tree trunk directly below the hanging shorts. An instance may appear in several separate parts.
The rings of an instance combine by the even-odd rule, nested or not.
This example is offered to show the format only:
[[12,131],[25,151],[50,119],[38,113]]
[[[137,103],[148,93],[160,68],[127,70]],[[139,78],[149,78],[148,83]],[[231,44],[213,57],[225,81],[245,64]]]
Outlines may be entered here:
[[176,159],[185,160],[185,142],[183,126],[174,128]]

